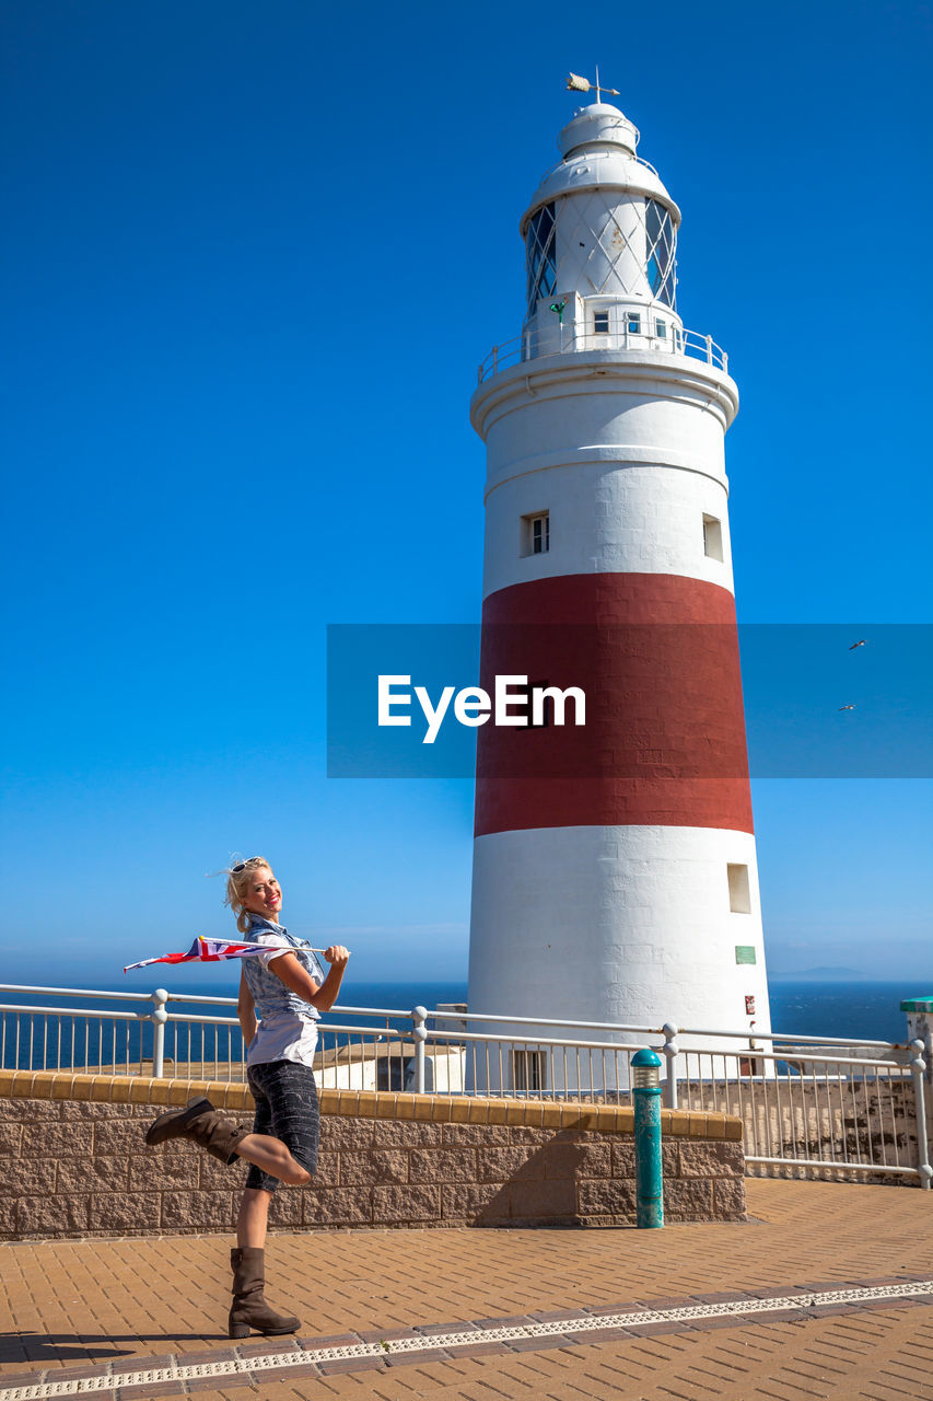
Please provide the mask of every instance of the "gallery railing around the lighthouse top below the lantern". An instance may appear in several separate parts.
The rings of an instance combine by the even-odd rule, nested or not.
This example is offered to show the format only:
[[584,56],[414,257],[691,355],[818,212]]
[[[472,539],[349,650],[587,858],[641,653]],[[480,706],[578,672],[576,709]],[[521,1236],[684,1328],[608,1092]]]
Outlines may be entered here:
[[483,384],[500,370],[524,364],[527,360],[542,360],[548,356],[572,354],[580,350],[657,350],[689,360],[703,360],[713,368],[721,370],[723,374],[728,374],[728,354],[712,336],[699,331],[685,331],[671,321],[670,314],[658,318],[643,311],[637,331],[630,329],[628,321],[612,332],[590,331],[570,321],[566,324],[555,321],[546,331],[524,331],[520,336],[513,336],[511,340],[492,347],[479,363],[476,382]]

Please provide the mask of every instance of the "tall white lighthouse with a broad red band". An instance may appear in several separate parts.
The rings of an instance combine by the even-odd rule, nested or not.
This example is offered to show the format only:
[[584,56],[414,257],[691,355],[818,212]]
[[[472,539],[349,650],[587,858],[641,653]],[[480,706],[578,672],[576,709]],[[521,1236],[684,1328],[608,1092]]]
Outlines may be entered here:
[[[681,216],[637,139],[604,102],[562,130],[521,219],[525,322],[471,405],[483,685],[587,700],[583,727],[479,730],[469,1006],[766,1031],[724,468],[738,391],[677,312]],[[523,1055],[500,1087],[532,1086]]]

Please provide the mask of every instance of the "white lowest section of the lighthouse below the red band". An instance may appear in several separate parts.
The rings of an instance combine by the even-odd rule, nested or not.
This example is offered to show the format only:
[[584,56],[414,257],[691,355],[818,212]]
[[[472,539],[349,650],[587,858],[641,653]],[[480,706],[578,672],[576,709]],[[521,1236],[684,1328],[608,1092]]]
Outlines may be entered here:
[[[469,948],[474,1016],[770,1030],[748,832],[542,827],[478,836]],[[567,1037],[556,1026],[552,1034]]]

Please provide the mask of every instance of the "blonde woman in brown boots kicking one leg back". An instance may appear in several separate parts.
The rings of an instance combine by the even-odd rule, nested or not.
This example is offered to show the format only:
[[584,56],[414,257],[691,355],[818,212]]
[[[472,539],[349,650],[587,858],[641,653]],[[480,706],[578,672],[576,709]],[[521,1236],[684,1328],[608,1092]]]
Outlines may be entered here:
[[230,1252],[230,1337],[245,1338],[251,1328],[263,1334],[298,1328],[297,1318],[276,1314],[263,1297],[266,1223],[279,1182],[304,1187],[317,1167],[318,1096],[311,1070],[317,1023],[336,1002],[350,954],[332,944],[324,954],[331,964],[324,975],[307,944],[279,923],[282,888],[265,856],[238,862],[226,874],[224,904],[234,911],[244,941],[273,946],[268,954],[248,954],[240,976],[237,1014],[256,1101],[252,1132],[202,1098],[160,1115],[146,1142],[188,1138],[224,1163],[244,1157],[251,1164],[237,1217],[237,1248]]

